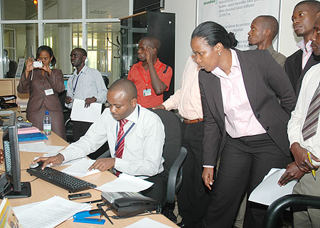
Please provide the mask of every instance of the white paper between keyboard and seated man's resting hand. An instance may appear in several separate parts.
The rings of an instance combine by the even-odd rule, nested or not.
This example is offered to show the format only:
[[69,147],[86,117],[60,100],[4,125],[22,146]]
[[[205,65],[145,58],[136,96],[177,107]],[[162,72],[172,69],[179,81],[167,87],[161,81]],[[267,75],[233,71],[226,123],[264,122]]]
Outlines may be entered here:
[[86,175],[92,175],[95,173],[100,173],[100,170],[94,169],[88,171],[87,169],[90,168],[90,166],[95,163],[95,160],[91,159],[81,159],[80,161],[77,161],[73,163],[73,165],[68,166],[64,170],[61,170],[63,173],[68,173],[70,175],[74,175],[76,177],[82,178]]

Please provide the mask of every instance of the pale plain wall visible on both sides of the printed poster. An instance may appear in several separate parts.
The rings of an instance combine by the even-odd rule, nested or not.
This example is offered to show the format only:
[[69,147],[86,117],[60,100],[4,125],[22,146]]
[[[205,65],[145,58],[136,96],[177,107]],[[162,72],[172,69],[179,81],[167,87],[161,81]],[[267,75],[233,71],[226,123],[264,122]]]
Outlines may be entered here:
[[[292,11],[299,1],[301,0],[282,0],[279,51],[286,56],[297,50],[297,40],[301,40],[295,36],[291,21]],[[165,0],[163,12],[176,13],[176,90],[181,85],[183,68],[192,52],[190,38],[196,28],[196,0]]]

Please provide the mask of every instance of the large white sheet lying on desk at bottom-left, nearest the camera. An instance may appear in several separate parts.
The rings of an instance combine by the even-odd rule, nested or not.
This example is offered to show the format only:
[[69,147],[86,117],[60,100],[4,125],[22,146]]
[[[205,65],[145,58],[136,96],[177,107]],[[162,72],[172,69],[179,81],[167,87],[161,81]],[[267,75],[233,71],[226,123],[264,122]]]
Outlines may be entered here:
[[[75,213],[87,210],[85,203],[72,202],[62,197],[54,196],[39,202],[28,210],[16,214],[23,228],[51,228],[64,222]],[[90,207],[91,208],[91,207]]]

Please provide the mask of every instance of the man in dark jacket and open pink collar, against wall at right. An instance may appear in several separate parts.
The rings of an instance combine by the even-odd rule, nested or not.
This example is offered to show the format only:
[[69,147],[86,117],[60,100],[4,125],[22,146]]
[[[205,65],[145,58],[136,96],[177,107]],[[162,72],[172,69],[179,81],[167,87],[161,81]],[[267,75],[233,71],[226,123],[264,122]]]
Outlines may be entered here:
[[303,37],[297,46],[299,50],[290,55],[284,63],[284,68],[289,76],[294,92],[297,96],[301,88],[302,79],[306,72],[319,63],[319,56],[312,55],[311,36],[314,31],[314,21],[320,15],[319,1],[300,1],[292,13],[294,33]]

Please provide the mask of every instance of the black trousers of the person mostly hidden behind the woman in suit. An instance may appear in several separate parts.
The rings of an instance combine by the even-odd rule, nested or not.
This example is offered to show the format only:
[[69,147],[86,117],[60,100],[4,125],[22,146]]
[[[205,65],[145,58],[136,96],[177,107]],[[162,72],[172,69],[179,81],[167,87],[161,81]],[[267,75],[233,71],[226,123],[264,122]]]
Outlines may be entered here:
[[182,124],[183,141],[188,155],[183,163],[183,179],[178,191],[178,212],[183,224],[195,227],[206,212],[210,198],[209,191],[202,181],[202,139],[203,122]]

